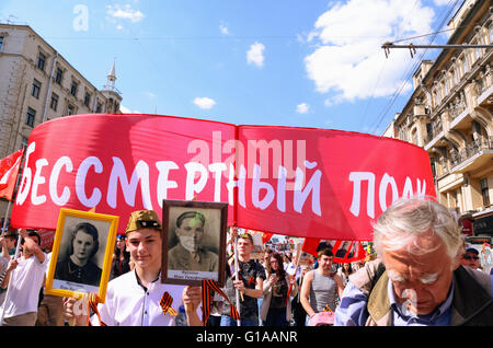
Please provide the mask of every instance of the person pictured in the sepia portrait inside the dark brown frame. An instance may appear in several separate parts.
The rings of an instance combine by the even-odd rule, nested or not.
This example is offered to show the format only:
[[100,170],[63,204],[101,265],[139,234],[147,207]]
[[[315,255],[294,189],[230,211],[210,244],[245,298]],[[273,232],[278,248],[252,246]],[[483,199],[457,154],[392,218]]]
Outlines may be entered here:
[[168,269],[217,271],[219,256],[204,248],[206,219],[198,211],[185,211],[176,219],[179,243],[168,253]]

